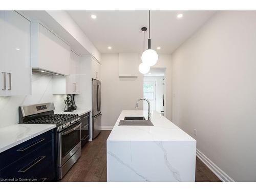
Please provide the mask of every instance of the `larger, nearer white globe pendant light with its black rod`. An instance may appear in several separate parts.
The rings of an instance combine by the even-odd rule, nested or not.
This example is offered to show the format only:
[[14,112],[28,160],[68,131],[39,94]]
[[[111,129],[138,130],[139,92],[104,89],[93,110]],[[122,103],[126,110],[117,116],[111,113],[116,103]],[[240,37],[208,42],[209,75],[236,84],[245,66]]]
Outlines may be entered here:
[[158,60],[158,54],[155,50],[151,49],[151,38],[150,38],[150,11],[148,11],[148,49],[141,55],[142,62],[147,66],[154,66]]

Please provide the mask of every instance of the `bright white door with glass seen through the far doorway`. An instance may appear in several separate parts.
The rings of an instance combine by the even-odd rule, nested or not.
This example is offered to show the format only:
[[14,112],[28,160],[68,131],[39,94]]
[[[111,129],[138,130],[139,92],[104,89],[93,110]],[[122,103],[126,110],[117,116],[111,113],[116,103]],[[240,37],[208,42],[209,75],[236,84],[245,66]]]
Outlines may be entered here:
[[[156,81],[144,81],[143,97],[150,101],[151,110],[156,110]],[[147,110],[147,103],[144,103],[144,110]]]

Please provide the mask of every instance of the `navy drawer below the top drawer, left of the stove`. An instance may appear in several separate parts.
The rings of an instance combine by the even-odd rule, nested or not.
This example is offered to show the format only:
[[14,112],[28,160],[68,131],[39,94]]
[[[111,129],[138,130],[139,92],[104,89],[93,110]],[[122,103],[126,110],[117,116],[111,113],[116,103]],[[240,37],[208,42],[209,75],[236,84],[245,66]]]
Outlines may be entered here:
[[53,142],[49,141],[45,145],[38,147],[33,152],[0,170],[0,177],[2,179],[14,178],[18,179],[18,181],[27,181],[26,179],[38,181],[41,178],[48,179],[50,174],[51,177],[54,178],[55,164],[52,144]]

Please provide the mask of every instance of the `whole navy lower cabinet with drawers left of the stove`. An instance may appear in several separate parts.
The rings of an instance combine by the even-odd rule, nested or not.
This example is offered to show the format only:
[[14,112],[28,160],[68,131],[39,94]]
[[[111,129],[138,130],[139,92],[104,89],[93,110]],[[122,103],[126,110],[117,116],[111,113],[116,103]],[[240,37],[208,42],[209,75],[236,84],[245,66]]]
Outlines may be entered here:
[[[53,134],[49,132],[48,134]],[[24,148],[29,147],[28,143],[33,145],[37,139],[31,139],[24,144],[19,144]],[[40,140],[38,140],[40,141]],[[44,140],[45,141],[45,140]],[[20,147],[19,146],[19,147]],[[20,153],[17,146],[10,148],[9,150],[0,154],[1,159],[8,159],[8,155],[11,157],[17,157]],[[22,147],[22,148],[23,148]],[[32,146],[31,146],[32,147]],[[56,180],[56,153],[55,153],[54,139],[48,140],[47,143],[37,144],[37,147],[33,151],[25,154],[19,159],[16,159],[10,164],[6,165],[6,161],[1,162],[2,169],[0,170],[0,181],[54,181]],[[17,153],[17,154],[16,154]],[[18,156],[20,157],[20,155]],[[3,168],[4,166],[4,168]]]

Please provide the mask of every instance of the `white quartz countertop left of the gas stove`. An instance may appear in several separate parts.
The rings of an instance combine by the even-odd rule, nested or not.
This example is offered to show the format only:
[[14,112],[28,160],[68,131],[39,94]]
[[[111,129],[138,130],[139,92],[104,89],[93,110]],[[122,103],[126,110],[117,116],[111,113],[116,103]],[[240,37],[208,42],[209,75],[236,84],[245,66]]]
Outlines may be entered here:
[[0,128],[0,153],[52,130],[55,124],[14,124]]

